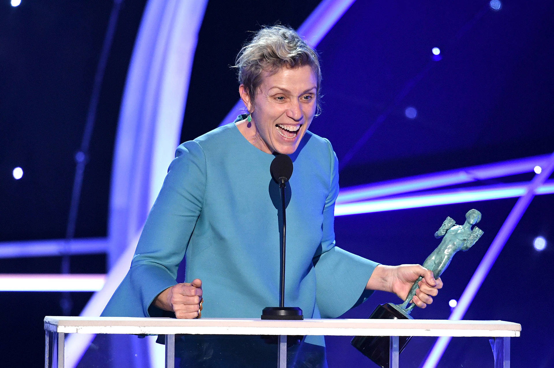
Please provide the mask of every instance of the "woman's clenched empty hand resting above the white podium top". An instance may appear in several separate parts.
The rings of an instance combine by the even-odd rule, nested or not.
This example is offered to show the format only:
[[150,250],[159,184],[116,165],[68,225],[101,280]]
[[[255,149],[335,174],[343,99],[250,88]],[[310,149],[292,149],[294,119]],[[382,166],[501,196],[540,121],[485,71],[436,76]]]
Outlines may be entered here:
[[200,301],[202,300],[202,281],[192,280],[192,283],[181,283],[163,290],[158,295],[155,305],[163,310],[175,312],[180,319],[198,318]]

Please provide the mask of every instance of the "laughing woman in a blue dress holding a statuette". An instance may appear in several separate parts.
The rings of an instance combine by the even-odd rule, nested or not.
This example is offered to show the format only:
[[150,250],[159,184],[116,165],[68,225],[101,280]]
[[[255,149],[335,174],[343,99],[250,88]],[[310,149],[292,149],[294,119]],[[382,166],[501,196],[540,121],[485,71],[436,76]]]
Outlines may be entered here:
[[[373,290],[404,299],[419,276],[413,303],[431,303],[442,282],[420,265],[379,265],[335,247],[338,163],[330,142],[307,130],[320,100],[314,49],[293,29],[263,28],[235,66],[248,114],[178,147],[131,269],[102,315],[198,318],[204,300],[202,316],[259,318],[263,308],[278,305],[279,219],[269,173],[274,154],[294,162],[288,305],[300,306],[305,318],[335,318]],[[186,283],[177,284],[183,255]],[[325,366],[321,346],[322,336],[306,336],[291,359],[297,366],[308,359]]]

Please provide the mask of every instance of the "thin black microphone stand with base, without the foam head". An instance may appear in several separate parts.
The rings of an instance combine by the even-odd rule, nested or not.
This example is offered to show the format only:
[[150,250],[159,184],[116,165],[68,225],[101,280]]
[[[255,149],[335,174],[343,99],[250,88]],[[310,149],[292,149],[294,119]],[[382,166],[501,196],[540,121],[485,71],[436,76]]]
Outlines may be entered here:
[[281,293],[279,306],[266,306],[261,312],[261,319],[304,319],[302,309],[297,306],[285,306],[285,246],[286,246],[286,201],[285,187],[287,179],[279,178],[281,206],[283,207],[283,241],[281,242]]

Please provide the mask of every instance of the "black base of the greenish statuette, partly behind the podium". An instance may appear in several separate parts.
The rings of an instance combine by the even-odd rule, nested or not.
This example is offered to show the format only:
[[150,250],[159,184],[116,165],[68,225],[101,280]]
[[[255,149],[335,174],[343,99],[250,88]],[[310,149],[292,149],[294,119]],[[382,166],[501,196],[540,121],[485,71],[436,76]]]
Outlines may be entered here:
[[[370,319],[413,319],[409,314],[392,303],[380,304],[370,315]],[[399,336],[398,352],[402,352],[412,336]],[[382,368],[389,367],[390,336],[354,336],[350,341],[363,355]]]

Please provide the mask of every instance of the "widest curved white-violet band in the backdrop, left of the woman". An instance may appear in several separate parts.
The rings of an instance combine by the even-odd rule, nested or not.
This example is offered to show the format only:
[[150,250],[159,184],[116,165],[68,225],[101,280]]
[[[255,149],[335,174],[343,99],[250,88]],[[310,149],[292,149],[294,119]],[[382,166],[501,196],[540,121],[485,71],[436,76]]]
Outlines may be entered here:
[[[178,145],[188,84],[208,0],[148,0],[121,102],[109,206],[110,272],[81,313],[98,316],[129,269],[138,234]],[[117,366],[148,367],[138,339],[125,336],[112,353]],[[94,336],[66,339],[75,367]],[[130,338],[130,339],[129,339]],[[163,362],[163,360],[162,360]]]

